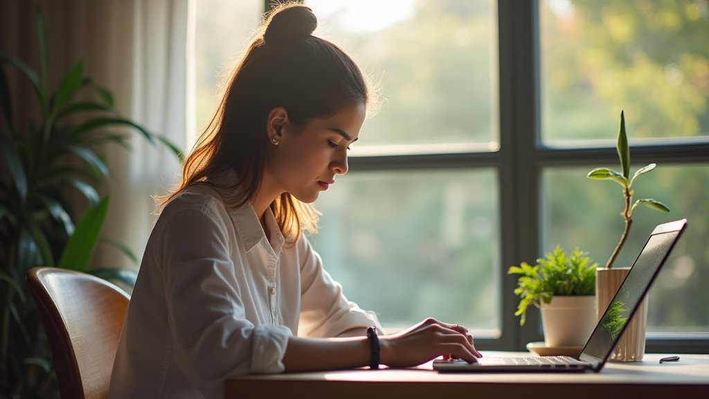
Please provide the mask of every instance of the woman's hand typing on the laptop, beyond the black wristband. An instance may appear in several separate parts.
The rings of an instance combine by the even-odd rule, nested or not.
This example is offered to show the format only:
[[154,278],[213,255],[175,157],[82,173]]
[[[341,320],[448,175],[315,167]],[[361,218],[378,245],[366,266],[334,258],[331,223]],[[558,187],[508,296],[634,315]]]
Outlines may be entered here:
[[473,337],[460,324],[448,324],[428,318],[396,334],[379,337],[381,364],[411,367],[444,356],[474,363],[482,355],[473,345]]

